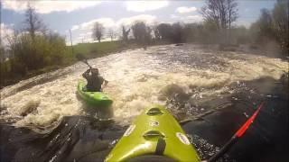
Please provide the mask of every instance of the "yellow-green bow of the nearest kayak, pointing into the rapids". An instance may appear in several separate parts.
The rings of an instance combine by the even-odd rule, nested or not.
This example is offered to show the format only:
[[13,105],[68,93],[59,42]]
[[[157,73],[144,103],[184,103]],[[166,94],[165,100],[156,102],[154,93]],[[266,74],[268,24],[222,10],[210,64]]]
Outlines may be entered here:
[[117,161],[200,161],[179,123],[163,106],[146,108],[106,158]]

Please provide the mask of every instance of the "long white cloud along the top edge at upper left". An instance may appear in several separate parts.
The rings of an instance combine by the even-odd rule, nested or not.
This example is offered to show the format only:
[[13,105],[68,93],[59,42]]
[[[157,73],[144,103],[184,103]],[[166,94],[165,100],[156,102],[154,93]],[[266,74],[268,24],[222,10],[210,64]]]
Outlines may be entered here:
[[27,9],[27,4],[30,3],[39,14],[50,14],[52,12],[72,12],[75,10],[95,6],[100,4],[100,1],[20,1],[20,0],[5,0],[2,1],[3,8],[14,10],[15,12],[23,12]]

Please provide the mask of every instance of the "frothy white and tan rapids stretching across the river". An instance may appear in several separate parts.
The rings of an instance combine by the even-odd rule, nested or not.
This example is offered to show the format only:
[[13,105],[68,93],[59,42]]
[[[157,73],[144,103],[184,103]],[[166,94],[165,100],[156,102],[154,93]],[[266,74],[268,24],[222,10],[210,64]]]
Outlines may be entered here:
[[[232,94],[234,89],[229,85],[233,83],[266,76],[279,79],[288,73],[289,66],[279,58],[243,51],[220,52],[190,44],[126,50],[89,59],[89,63],[108,80],[104,92],[114,100],[115,120],[122,124],[131,121],[145,106],[166,105],[172,85],[198,104],[212,96]],[[87,115],[76,95],[78,81],[86,69],[85,64],[78,62],[3,88],[0,119],[14,120],[17,127],[45,128],[63,116]],[[52,79],[37,84],[37,80],[46,77]],[[19,90],[32,82],[35,85]]]

